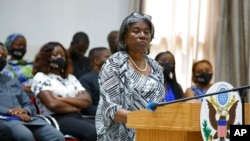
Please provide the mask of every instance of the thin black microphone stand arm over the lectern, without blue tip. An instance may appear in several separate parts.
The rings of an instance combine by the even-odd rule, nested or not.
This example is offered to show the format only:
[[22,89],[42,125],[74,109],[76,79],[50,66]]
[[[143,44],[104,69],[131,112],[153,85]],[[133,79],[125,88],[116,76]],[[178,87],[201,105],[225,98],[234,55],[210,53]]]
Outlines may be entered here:
[[154,105],[155,107],[153,107],[153,108],[156,109],[157,106],[164,106],[164,105],[168,105],[168,104],[184,102],[184,101],[187,101],[187,100],[198,99],[198,98],[212,96],[212,95],[219,95],[219,94],[227,93],[227,92],[239,91],[239,95],[241,97],[241,105],[242,105],[242,124],[245,125],[245,97],[246,97],[246,94],[247,94],[246,89],[249,89],[249,88],[250,88],[250,85],[242,86],[242,87],[238,87],[238,88],[233,88],[233,89],[226,90],[226,91],[220,91],[220,92],[204,94],[204,95],[199,95],[199,96],[194,96],[194,97],[187,97],[187,98],[177,99],[177,100],[170,101],[170,102],[160,102],[160,103],[157,103],[156,105]]

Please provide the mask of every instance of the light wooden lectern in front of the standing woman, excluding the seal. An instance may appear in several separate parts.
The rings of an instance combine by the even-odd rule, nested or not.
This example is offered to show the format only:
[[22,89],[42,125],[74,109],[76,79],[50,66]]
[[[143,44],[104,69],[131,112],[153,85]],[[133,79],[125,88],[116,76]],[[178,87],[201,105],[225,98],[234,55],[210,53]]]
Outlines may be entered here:
[[[201,103],[175,103],[128,114],[127,127],[135,129],[136,141],[202,141]],[[250,123],[250,104],[245,104],[245,124]]]

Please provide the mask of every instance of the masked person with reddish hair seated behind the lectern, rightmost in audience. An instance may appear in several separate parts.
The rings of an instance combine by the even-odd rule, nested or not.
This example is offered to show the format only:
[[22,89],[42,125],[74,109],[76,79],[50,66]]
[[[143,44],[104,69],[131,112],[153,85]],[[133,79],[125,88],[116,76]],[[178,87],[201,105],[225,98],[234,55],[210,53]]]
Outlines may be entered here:
[[[208,60],[200,60],[192,66],[192,82],[193,85],[187,88],[185,97],[193,97],[206,94],[212,85],[213,76],[212,64]],[[198,100],[202,100],[199,98]]]

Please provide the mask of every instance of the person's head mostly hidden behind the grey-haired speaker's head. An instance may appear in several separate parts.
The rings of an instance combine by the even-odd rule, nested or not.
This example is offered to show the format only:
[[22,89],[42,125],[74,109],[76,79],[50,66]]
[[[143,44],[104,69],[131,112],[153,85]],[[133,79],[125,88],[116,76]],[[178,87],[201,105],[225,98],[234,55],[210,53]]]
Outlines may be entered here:
[[109,44],[109,49],[112,54],[117,52],[118,35],[119,35],[118,30],[112,30],[108,34],[108,44]]

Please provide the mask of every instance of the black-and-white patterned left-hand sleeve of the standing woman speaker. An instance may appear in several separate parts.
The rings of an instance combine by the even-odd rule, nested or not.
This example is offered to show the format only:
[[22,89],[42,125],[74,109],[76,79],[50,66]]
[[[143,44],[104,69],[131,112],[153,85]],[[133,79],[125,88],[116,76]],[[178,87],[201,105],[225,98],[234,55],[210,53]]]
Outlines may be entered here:
[[103,117],[104,124],[109,126],[114,120],[116,111],[120,109],[121,106],[121,93],[119,92],[119,66],[118,60],[110,58],[103,65],[99,73],[99,85],[100,85],[100,102],[99,107],[101,107],[101,116]]

